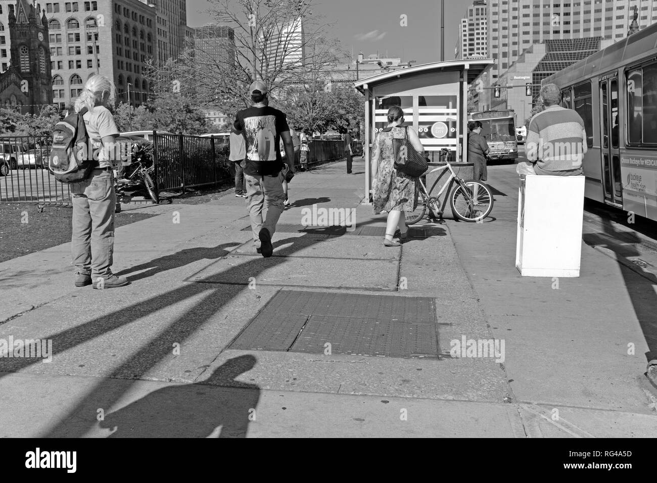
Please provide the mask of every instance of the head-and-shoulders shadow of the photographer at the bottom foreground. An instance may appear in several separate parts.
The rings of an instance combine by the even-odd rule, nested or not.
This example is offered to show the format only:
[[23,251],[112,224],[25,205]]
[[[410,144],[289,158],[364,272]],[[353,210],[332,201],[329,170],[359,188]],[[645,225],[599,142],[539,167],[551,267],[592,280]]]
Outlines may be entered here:
[[260,388],[235,379],[255,365],[254,356],[234,357],[208,379],[151,392],[109,413],[99,425],[114,430],[109,438],[208,438],[215,436],[219,426],[219,438],[245,438],[260,400]]

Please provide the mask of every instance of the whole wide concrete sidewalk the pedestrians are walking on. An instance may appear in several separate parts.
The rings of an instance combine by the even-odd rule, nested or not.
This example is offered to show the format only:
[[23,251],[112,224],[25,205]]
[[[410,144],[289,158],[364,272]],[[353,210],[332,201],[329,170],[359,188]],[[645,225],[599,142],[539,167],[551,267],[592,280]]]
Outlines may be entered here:
[[[0,338],[51,339],[55,353],[52,363],[0,359],[6,408],[0,436],[106,437],[114,428],[116,437],[223,430],[233,436],[655,434],[657,420],[639,381],[646,344],[637,318],[626,317],[610,336],[612,319],[625,316],[626,307],[600,310],[623,286],[617,264],[584,250],[583,266],[596,267],[595,275],[539,290],[551,281],[518,277],[509,264],[513,202],[501,196],[493,223],[418,225],[415,235],[422,236],[384,248],[385,217],[360,204],[363,161],[355,160],[354,175],[345,164],[294,178],[294,205],[281,216],[274,256],[266,260],[252,249],[244,199],[229,192],[202,205],[143,208],[159,215],[120,227],[114,269],[129,277],[128,287],[73,287],[68,244],[0,264],[6,288],[0,321],[9,319]],[[313,204],[355,209],[355,231],[304,230],[304,210]],[[325,338],[284,333],[296,327],[292,312],[301,302],[295,297],[306,292],[315,292],[310,300],[344,300],[345,313],[378,310],[385,317],[394,315],[388,302],[403,298],[400,317],[418,331],[424,326],[416,317],[428,298],[438,322],[436,354],[443,357],[326,354],[326,341],[338,348],[340,331],[369,331],[372,320],[341,316],[342,325],[335,325],[334,317],[313,315],[304,327],[313,317],[323,320]],[[282,294],[294,303],[277,308]],[[370,302],[348,302],[356,296]],[[228,348],[249,333],[253,325],[244,327],[259,313],[271,314],[271,324],[255,336],[273,344],[291,334],[292,348],[302,348]],[[576,323],[601,318],[610,322],[599,329]],[[493,335],[505,339],[503,363],[449,357],[451,340]],[[636,345],[633,359],[620,354],[627,341]],[[555,407],[558,421],[551,418]],[[100,423],[99,409],[106,418]]]

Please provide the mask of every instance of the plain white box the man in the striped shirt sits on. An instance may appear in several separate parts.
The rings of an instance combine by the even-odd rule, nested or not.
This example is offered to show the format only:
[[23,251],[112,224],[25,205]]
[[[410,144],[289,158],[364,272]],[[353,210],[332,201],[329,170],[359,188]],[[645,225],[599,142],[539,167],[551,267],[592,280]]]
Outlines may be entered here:
[[579,277],[584,176],[526,175],[518,189],[516,268],[524,277]]

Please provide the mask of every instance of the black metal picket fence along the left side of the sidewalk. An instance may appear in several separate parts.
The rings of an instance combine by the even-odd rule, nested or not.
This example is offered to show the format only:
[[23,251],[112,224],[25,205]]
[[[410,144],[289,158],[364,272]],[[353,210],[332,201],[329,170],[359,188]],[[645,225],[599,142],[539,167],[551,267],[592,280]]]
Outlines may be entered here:
[[[160,191],[217,185],[233,179],[227,137],[199,137],[153,131],[154,181]],[[49,172],[50,137],[0,137],[0,202],[71,204],[69,186]],[[308,164],[344,158],[342,141],[313,139]]]

